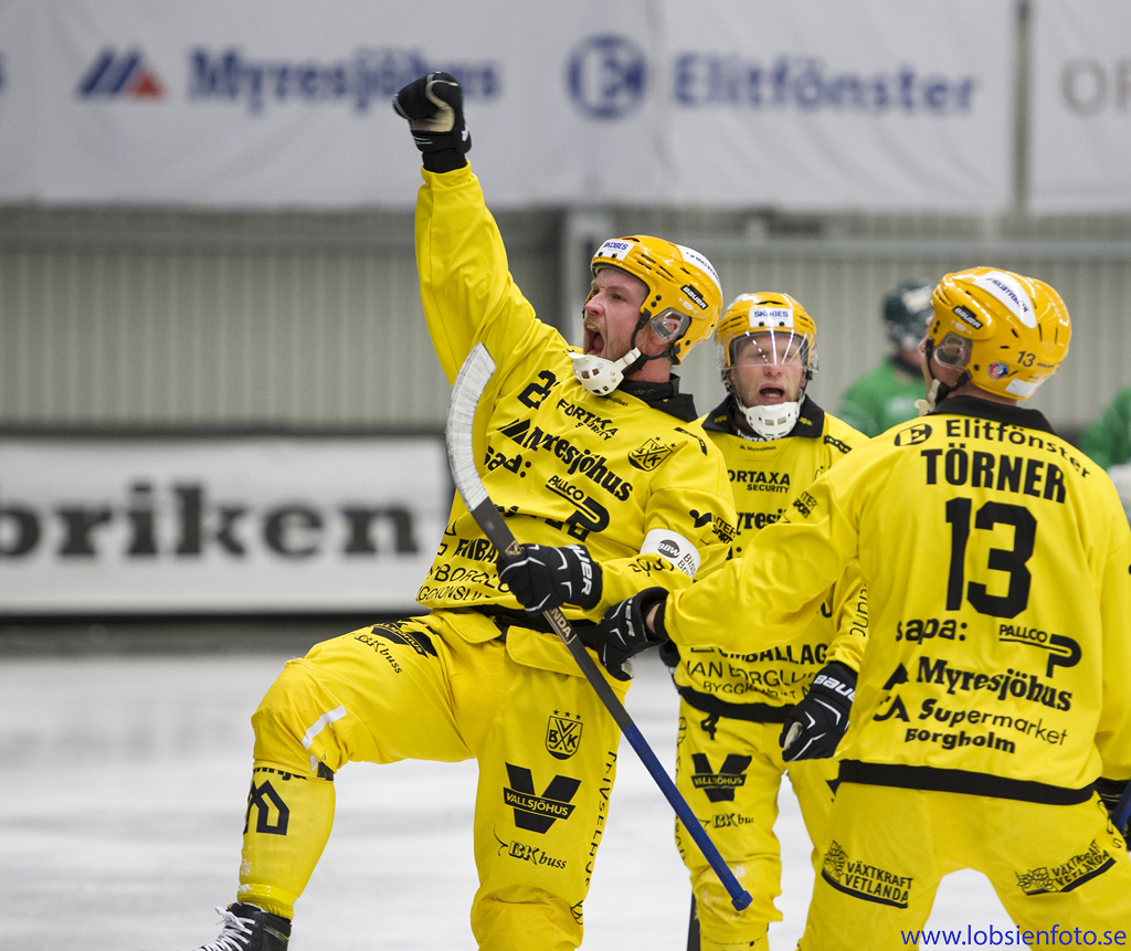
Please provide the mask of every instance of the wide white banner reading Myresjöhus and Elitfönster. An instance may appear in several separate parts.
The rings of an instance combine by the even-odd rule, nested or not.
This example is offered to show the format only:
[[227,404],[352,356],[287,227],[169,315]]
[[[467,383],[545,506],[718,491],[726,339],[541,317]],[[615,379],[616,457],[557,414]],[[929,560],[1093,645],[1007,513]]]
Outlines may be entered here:
[[0,201],[408,207],[460,77],[492,207],[985,210],[1012,0],[0,0]]

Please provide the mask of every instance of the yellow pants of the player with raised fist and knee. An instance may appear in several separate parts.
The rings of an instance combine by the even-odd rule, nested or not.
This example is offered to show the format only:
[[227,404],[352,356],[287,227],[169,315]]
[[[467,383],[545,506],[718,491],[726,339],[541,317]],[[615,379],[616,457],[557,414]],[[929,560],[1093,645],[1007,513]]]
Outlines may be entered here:
[[[498,634],[478,614],[437,612],[287,663],[252,718],[241,901],[293,915],[333,824],[331,771],[475,758],[476,940],[500,951],[581,942],[620,730],[555,639]],[[623,697],[628,684],[611,683]]]

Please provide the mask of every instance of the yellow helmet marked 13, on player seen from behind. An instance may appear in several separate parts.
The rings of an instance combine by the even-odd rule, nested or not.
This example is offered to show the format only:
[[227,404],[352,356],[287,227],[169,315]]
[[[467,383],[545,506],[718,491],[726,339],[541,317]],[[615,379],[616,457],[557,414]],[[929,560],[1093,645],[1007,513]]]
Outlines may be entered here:
[[1028,399],[1068,355],[1068,308],[1035,277],[969,268],[943,277],[931,304],[929,356],[988,392]]

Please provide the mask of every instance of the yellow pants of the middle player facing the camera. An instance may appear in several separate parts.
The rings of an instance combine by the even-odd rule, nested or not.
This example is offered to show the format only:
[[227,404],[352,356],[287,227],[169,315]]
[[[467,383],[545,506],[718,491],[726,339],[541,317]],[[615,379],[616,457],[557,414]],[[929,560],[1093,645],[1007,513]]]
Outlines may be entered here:
[[786,764],[778,745],[780,733],[782,724],[711,717],[687,701],[680,702],[676,786],[753,899],[744,911],[735,911],[718,876],[676,822],[675,841],[691,873],[703,951],[765,949],[767,926],[782,920],[774,907],[774,899],[782,893],[782,858],[774,823],[785,773],[813,844],[814,868],[823,850],[837,763],[805,760]]

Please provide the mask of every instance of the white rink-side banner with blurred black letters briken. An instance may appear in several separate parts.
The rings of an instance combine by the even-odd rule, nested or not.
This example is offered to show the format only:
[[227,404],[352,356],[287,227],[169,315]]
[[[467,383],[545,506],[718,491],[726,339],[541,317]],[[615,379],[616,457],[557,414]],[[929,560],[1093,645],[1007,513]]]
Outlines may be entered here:
[[0,614],[404,612],[440,438],[0,439]]

